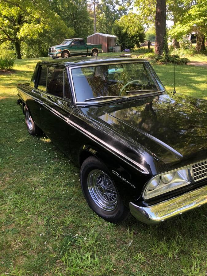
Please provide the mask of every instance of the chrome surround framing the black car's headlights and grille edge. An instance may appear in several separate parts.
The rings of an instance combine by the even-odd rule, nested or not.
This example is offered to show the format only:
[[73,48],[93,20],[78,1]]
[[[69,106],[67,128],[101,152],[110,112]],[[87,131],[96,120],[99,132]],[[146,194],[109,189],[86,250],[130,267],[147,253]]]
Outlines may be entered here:
[[[204,159],[204,160],[201,160],[200,162],[207,162],[207,159]],[[192,166],[193,165],[195,165],[195,164],[197,164],[197,163],[200,163],[199,161],[198,162],[195,162],[195,163],[191,163],[191,164],[189,164],[189,165],[186,165],[186,166],[183,166],[183,167],[179,167],[179,168],[177,168],[177,169],[174,169],[174,170],[172,170],[172,171],[164,171],[164,172],[162,172],[162,173],[159,173],[159,174],[155,174],[155,175],[153,175],[146,183],[145,183],[145,185],[144,185],[144,188],[143,188],[143,192],[142,192],[142,197],[144,198],[144,199],[151,199],[151,198],[154,198],[154,197],[157,197],[157,196],[160,196],[160,195],[163,195],[163,194],[166,194],[166,193],[168,193],[168,192],[171,192],[171,191],[173,191],[173,190],[176,190],[176,189],[178,189],[178,188],[181,188],[181,187],[183,187],[183,186],[186,186],[186,185],[188,185],[188,184],[190,184],[190,183],[192,183],[192,182],[197,182],[197,181],[195,181],[194,180],[194,177],[193,177],[193,173],[192,173]],[[161,177],[163,174],[168,174],[168,173],[171,173],[171,172],[174,172],[174,171],[179,171],[179,170],[182,170],[182,169],[188,169],[188,171],[189,171],[189,173],[190,173],[190,177],[191,177],[191,181],[188,181],[188,182],[186,182],[186,183],[183,183],[183,184],[180,184],[180,185],[178,185],[178,187],[172,187],[171,189],[169,189],[166,193],[160,193],[159,195],[155,195],[154,197],[144,197],[144,194],[145,194],[145,191],[146,191],[146,189],[147,189],[147,187],[148,187],[148,183],[150,183],[151,182],[151,180],[153,179],[153,178],[155,178],[155,177]],[[205,178],[203,178],[203,179],[205,179]],[[206,179],[207,179],[207,177],[206,177]],[[161,180],[160,180],[161,181]],[[156,190],[156,188],[155,188],[155,190]]]

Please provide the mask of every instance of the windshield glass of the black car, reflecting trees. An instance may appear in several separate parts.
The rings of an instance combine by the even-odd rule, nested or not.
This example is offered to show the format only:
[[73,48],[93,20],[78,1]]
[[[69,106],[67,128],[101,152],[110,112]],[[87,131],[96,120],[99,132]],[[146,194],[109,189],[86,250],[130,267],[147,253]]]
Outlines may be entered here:
[[72,69],[71,73],[77,102],[102,96],[128,97],[165,89],[147,62],[79,67]]

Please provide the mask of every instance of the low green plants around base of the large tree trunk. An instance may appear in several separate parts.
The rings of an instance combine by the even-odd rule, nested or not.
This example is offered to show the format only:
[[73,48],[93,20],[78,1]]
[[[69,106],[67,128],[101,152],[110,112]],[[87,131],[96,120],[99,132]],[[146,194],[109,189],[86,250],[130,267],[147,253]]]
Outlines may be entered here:
[[161,64],[167,64],[167,63],[175,63],[175,64],[187,64],[190,62],[189,59],[187,58],[180,58],[177,55],[163,55],[163,56],[158,56],[155,53],[146,53],[144,55],[139,56],[139,58],[144,58],[144,59],[154,59],[158,63]]

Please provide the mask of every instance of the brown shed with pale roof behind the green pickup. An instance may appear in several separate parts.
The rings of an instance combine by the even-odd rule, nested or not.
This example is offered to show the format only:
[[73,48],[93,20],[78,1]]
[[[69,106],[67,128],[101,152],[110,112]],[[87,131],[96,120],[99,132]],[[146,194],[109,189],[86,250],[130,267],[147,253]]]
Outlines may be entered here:
[[87,43],[102,44],[103,52],[109,52],[109,47],[115,46],[117,36],[112,36],[106,33],[94,33],[87,36]]

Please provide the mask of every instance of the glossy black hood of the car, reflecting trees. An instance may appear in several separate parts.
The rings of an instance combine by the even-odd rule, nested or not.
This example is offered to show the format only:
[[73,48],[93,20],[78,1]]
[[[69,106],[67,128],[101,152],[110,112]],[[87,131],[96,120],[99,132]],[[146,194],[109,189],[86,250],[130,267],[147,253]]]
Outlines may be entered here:
[[84,113],[140,144],[168,169],[207,158],[207,101],[181,94],[162,94]]

